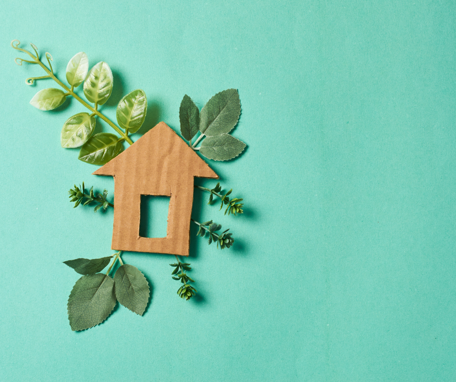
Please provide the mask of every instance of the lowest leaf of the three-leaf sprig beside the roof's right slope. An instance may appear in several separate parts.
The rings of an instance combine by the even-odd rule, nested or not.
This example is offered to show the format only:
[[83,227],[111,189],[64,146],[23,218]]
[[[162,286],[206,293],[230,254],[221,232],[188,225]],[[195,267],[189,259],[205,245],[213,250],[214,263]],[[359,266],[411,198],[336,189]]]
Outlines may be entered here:
[[237,157],[245,148],[245,143],[229,134],[208,137],[201,143],[199,152],[206,158],[228,160]]

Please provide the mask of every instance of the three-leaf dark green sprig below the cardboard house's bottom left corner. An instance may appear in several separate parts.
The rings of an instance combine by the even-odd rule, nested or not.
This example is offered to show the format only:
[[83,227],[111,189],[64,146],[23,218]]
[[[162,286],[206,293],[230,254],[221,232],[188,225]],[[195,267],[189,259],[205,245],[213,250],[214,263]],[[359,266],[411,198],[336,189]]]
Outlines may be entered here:
[[[149,301],[149,284],[141,271],[123,263],[121,252],[98,259],[64,261],[67,266],[83,275],[68,297],[68,319],[73,331],[89,329],[103,322],[113,311],[116,301],[132,312],[143,315]],[[105,274],[98,273],[111,260],[108,271]],[[121,266],[112,278],[109,273],[117,260]]]

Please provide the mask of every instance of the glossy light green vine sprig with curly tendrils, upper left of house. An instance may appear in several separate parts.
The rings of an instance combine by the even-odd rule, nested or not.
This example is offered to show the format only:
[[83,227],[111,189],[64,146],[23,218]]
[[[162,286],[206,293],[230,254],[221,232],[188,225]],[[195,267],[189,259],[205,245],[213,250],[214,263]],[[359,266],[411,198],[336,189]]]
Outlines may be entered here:
[[[91,112],[91,114],[80,112],[66,120],[60,137],[62,147],[81,147],[78,159],[86,163],[103,165],[123,151],[123,141],[133,143],[129,133],[136,132],[146,118],[147,98],[142,90],[134,90],[120,100],[116,112],[119,124],[117,126],[98,110],[98,106],[105,104],[113,91],[113,73],[107,63],[101,61],[89,70],[87,55],[84,52],[76,53],[66,65],[66,80],[70,85],[68,87],[54,74],[50,63],[52,56],[48,52],[45,53],[45,56],[49,67],[40,60],[38,50],[33,44],[31,46],[34,54],[19,48],[19,44],[18,40],[11,42],[13,48],[28,54],[32,60],[16,58],[16,64],[22,65],[24,62],[38,64],[47,73],[46,76],[28,78],[26,83],[32,85],[36,80],[52,79],[63,88],[63,90],[55,88],[40,90],[30,101],[32,106],[39,110],[49,111],[63,105],[66,97],[72,96]],[[88,102],[75,92],[75,88],[81,84],[83,84],[83,94]],[[120,137],[110,133],[93,135],[96,125],[95,117],[101,118],[114,128]],[[125,131],[122,131],[122,128]]]

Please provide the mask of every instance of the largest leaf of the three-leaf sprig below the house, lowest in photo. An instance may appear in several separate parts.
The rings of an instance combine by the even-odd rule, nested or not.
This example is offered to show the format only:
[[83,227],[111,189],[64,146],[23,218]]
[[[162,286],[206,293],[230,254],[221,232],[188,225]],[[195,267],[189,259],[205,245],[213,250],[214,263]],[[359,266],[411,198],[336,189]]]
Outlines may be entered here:
[[115,306],[114,280],[102,273],[82,276],[68,298],[71,330],[84,330],[103,322]]

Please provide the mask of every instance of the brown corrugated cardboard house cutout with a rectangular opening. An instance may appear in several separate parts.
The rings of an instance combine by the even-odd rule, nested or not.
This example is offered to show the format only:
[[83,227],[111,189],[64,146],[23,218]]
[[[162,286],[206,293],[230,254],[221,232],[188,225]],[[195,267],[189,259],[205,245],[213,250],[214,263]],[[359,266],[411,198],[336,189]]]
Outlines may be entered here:
[[[94,172],[114,176],[116,251],[189,255],[193,178],[218,178],[164,122]],[[141,195],[170,196],[165,238],[139,236]]]

